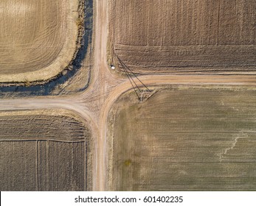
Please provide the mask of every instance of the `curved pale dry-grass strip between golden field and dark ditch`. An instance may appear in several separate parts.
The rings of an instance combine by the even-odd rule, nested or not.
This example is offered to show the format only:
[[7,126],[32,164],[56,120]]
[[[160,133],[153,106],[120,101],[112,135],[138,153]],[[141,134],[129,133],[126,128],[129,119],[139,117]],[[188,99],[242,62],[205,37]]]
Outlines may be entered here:
[[[68,10],[65,18],[67,26],[64,28],[67,34],[58,57],[49,66],[38,71],[22,74],[0,75],[1,87],[24,86],[28,88],[35,85],[45,85],[48,82],[66,76],[72,70],[77,70],[76,66],[80,65],[81,60],[84,58],[81,57],[80,50],[84,43],[87,44],[84,39],[86,38],[84,35],[86,35],[87,29],[85,26],[89,26],[88,29],[90,29],[90,25],[86,24],[86,4],[85,1],[81,0],[65,2],[65,5],[69,7],[66,8]],[[83,54],[85,52],[82,51]]]

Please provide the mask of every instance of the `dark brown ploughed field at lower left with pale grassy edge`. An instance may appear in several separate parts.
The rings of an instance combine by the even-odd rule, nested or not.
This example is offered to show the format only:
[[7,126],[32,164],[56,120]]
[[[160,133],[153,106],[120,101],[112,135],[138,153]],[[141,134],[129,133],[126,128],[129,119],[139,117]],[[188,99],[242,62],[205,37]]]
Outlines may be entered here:
[[1,191],[91,190],[91,133],[67,110],[0,113]]

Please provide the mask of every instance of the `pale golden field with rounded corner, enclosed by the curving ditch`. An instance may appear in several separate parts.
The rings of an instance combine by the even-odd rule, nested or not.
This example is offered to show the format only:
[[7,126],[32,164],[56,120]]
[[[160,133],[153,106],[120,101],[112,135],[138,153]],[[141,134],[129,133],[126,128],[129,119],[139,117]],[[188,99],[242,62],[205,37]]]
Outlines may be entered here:
[[0,2],[0,82],[51,79],[72,61],[79,0]]

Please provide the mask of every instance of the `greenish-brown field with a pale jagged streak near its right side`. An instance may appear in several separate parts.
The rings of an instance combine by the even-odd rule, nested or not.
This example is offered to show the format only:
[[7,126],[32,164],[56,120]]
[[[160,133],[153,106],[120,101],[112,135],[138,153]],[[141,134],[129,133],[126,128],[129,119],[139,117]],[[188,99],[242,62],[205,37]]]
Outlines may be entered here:
[[108,116],[108,190],[255,191],[255,88],[173,86]]

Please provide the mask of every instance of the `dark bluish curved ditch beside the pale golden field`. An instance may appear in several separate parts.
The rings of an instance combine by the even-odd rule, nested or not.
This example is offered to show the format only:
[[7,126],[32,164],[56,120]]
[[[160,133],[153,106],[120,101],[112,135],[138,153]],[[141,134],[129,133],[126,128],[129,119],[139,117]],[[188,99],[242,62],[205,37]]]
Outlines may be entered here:
[[[82,34],[78,34],[77,43],[80,43],[80,48],[75,51],[74,60],[72,60],[69,65],[63,71],[67,71],[66,74],[58,74],[49,80],[49,82],[30,82],[31,85],[26,86],[26,82],[13,82],[11,84],[1,85],[0,86],[0,96],[11,96],[14,95],[16,97],[23,96],[47,96],[52,95],[52,91],[58,87],[58,85],[62,85],[67,80],[75,77],[77,71],[81,68],[81,63],[86,58],[88,46],[91,45],[92,40],[92,32],[93,32],[93,0],[80,1],[79,8],[83,8],[83,13],[80,13],[79,18],[83,17],[83,31]],[[79,10],[78,8],[78,10]],[[90,48],[92,50],[92,48]],[[89,66],[90,67],[90,66]],[[86,82],[86,85],[83,88],[77,90],[83,91],[86,90],[89,86],[91,76],[91,68],[89,68],[89,80]],[[15,85],[16,84],[16,85]],[[21,85],[22,84],[22,85]],[[35,84],[35,85],[33,85]],[[58,95],[58,94],[53,94]]]

